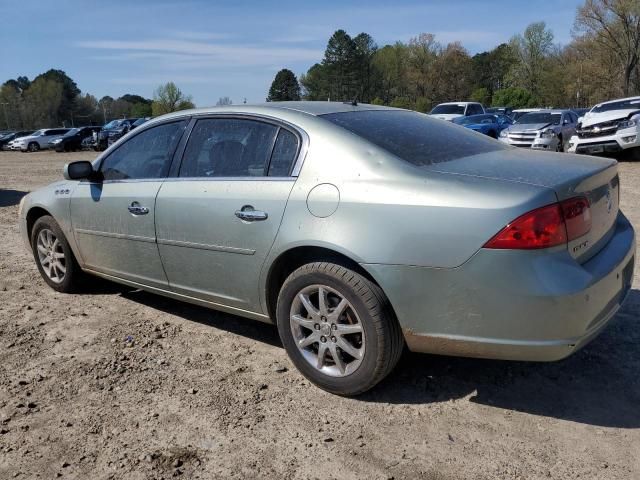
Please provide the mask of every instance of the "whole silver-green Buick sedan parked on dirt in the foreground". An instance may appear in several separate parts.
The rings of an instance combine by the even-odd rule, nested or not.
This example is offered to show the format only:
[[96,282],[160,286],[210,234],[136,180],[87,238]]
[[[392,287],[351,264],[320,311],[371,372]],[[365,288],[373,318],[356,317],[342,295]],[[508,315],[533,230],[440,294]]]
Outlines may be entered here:
[[24,197],[45,282],[92,274],[275,323],[330,392],[403,349],[558,360],[629,291],[616,162],[536,153],[406,110],[329,102],[157,118]]

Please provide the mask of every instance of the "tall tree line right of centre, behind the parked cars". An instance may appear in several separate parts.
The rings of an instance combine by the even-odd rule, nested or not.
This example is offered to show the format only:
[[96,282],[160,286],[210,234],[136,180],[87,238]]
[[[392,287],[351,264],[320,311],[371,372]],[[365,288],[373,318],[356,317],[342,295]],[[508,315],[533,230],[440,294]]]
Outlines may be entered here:
[[460,42],[422,33],[379,47],[337,30],[324,58],[300,75],[283,69],[267,100],[357,100],[429,111],[445,101],[588,107],[640,94],[640,1],[586,0],[572,40],[558,45],[544,22],[471,56]]

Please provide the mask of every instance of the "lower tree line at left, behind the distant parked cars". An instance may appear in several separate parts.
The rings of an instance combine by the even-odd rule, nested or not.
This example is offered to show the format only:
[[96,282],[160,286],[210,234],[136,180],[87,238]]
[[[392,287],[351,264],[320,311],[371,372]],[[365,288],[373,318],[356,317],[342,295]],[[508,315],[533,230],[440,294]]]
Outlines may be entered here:
[[98,99],[82,93],[64,71],[51,69],[33,80],[25,76],[0,86],[0,129],[102,125],[116,118],[139,118],[193,108],[173,82],[160,85],[153,99],[135,94]]

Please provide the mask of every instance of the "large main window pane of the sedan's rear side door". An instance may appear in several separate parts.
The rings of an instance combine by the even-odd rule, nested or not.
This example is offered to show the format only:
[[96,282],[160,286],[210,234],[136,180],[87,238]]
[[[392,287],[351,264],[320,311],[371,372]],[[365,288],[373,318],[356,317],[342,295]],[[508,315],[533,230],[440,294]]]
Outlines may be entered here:
[[[265,176],[268,173],[269,160],[277,133],[277,126],[258,120],[244,118],[198,120],[189,137],[179,176],[191,178]],[[283,145],[281,150],[283,155],[286,155],[286,145]]]

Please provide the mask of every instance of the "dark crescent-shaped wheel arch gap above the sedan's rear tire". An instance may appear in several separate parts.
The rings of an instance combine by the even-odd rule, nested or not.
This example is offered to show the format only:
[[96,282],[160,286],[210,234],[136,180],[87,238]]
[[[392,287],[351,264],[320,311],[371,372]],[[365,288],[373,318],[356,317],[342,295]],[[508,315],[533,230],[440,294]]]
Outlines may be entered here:
[[362,275],[366,279],[382,286],[371,276],[356,260],[345,253],[321,246],[296,246],[280,253],[269,266],[265,282],[265,300],[267,313],[274,320],[276,318],[276,305],[278,294],[287,277],[297,268],[311,262],[331,262],[349,268]]

